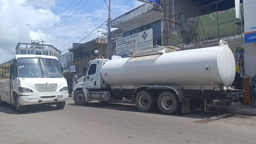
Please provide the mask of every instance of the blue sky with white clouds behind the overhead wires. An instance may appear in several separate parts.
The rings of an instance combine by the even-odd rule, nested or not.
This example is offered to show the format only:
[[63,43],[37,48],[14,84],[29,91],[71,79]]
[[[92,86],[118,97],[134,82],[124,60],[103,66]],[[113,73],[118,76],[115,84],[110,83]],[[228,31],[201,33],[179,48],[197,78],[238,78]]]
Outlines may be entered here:
[[[60,49],[82,35],[92,31],[107,20],[108,9],[104,0],[89,0],[74,15],[53,30],[87,0],[82,0],[68,13],[68,11],[80,1],[75,0],[69,8],[58,17],[72,1],[73,0],[0,0],[0,19],[2,19],[0,21],[0,61],[4,61],[15,54],[15,47],[18,42],[28,42],[38,34],[39,35],[34,39],[41,39],[43,37],[43,39],[47,41],[47,44],[51,44]],[[108,0],[106,0],[106,2],[108,4]],[[136,0],[112,0],[112,17],[128,12],[142,4],[142,2]],[[66,15],[66,17],[64,17],[64,15]],[[61,18],[63,19],[60,20]],[[42,31],[54,19],[56,20],[46,30]],[[60,22],[57,23],[59,20]],[[56,24],[55,27],[52,27],[54,24]],[[103,27],[105,27],[105,25],[103,25]],[[46,32],[47,30],[48,32]],[[104,29],[100,30],[104,31]],[[49,33],[50,31],[52,32]],[[89,41],[99,34],[100,33],[95,33],[82,42]],[[62,48],[61,51],[71,45]]]

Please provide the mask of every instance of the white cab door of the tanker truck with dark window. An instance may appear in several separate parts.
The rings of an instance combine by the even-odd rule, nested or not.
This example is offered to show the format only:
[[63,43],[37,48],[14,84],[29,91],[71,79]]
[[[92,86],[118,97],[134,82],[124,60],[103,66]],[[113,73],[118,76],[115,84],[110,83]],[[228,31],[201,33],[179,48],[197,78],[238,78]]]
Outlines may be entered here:
[[89,88],[97,88],[98,62],[91,62],[87,75],[89,76]]

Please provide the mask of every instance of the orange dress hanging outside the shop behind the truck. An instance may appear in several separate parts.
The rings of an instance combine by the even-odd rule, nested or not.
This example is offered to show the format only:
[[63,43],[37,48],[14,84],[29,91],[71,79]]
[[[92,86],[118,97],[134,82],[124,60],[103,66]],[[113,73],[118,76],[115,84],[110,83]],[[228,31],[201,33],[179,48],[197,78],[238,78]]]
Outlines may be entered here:
[[251,95],[251,85],[249,83],[250,76],[244,75],[243,76],[243,90],[245,90],[247,93],[243,95],[244,97],[244,104],[252,104],[252,95]]

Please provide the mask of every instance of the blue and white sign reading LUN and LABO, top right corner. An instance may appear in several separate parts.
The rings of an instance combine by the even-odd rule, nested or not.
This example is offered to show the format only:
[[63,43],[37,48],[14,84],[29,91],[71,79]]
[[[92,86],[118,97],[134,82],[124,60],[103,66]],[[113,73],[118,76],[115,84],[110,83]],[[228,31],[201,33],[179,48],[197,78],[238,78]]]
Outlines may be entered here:
[[255,0],[243,0],[245,43],[256,42]]

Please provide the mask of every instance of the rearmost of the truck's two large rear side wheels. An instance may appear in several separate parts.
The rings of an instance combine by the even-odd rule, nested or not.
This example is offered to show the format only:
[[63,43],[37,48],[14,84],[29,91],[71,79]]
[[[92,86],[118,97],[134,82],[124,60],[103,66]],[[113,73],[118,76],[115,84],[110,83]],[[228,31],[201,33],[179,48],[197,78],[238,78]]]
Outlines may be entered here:
[[162,92],[157,99],[157,104],[163,114],[174,114],[180,109],[178,96],[170,91]]

